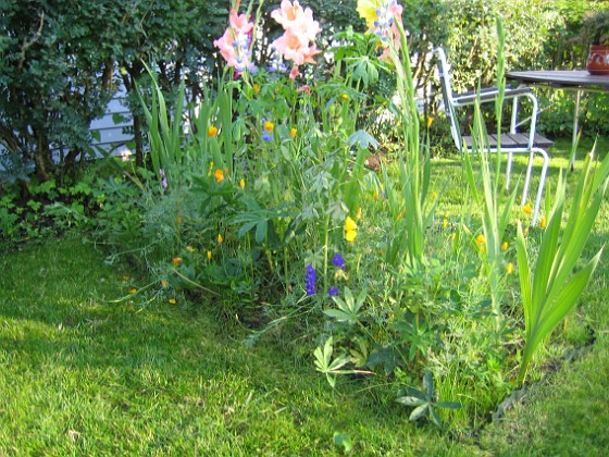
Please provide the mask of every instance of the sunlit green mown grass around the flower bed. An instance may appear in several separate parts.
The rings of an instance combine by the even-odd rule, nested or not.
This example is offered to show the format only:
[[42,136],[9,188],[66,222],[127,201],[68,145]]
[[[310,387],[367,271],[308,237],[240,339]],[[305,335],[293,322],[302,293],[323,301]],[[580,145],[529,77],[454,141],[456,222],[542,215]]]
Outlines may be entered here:
[[[552,165],[567,148],[552,151]],[[435,164],[449,165],[459,169]],[[608,232],[605,205],[586,256]],[[0,455],[335,455],[336,432],[350,435],[355,455],[609,448],[607,255],[554,347],[585,346],[591,333],[595,344],[556,373],[535,366],[545,381],[463,441],[412,424],[408,409],[361,383],[340,379],[332,390],[310,344],[286,344],[281,328],[250,348],[212,305],[116,301],[137,284],[123,279],[132,272],[77,239],[7,254],[0,272]],[[560,357],[552,350],[546,360]]]

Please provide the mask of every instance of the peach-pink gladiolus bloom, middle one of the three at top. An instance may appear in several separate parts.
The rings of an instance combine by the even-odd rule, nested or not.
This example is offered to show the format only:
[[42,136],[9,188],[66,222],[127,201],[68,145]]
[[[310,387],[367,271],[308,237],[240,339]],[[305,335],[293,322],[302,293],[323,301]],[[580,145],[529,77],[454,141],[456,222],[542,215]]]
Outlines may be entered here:
[[[273,41],[272,46],[284,59],[291,60],[296,65],[304,62],[315,63],[313,55],[321,51],[316,48],[314,40],[322,30],[320,23],[313,20],[313,11],[310,8],[302,9],[298,0],[294,2],[283,0],[281,8],[271,13],[271,17],[284,27],[284,35]],[[311,44],[311,41],[313,41]],[[294,69],[293,73],[294,74]]]

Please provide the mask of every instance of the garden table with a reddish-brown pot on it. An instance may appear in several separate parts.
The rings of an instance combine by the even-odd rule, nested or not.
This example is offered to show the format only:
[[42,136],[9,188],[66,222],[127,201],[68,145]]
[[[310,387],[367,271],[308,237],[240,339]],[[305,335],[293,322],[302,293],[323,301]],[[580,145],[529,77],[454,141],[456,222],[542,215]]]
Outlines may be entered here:
[[591,75],[586,70],[535,70],[507,72],[506,77],[519,81],[525,86],[545,86],[564,90],[575,90],[575,113],[573,115],[573,155],[571,169],[575,164],[575,144],[580,122],[580,102],[584,91],[609,91],[609,76]]

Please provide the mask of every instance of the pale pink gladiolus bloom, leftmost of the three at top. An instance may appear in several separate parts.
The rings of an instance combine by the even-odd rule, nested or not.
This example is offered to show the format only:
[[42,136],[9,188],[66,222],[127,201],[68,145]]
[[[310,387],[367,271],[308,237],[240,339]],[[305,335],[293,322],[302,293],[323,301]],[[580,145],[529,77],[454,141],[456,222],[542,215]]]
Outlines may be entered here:
[[220,49],[227,65],[235,67],[237,72],[253,71],[251,61],[253,23],[249,22],[245,14],[237,14],[236,10],[231,10],[228,21],[228,28],[222,38],[213,41],[213,46]]

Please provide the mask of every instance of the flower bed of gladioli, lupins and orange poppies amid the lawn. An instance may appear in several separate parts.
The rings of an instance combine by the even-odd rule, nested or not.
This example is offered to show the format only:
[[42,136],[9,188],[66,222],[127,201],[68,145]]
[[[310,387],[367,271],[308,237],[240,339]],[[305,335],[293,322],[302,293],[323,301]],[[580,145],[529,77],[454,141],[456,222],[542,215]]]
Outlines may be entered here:
[[[321,53],[310,9],[284,0],[273,11],[284,35],[266,70],[251,52],[256,14],[239,14],[237,2],[215,41],[224,78],[206,94],[187,138],[184,88],[173,116],[158,86],[151,108],[142,99],[152,171],[129,173],[141,189],[135,221],[104,236],[148,268],[165,299],[257,316],[265,325],[251,342],[294,322],[294,332],[320,343],[314,363],[333,386],[340,375],[390,384],[412,420],[442,425],[438,410],[463,407],[451,419],[476,423],[525,380],[536,348],[592,275],[598,256],[572,272],[609,162],[596,172],[586,162],[564,217],[560,180],[542,226],[529,230],[529,206],[502,196],[495,163],[465,157],[458,211],[447,212],[450,184],[431,176],[401,7],[360,0],[358,12],[375,48],[370,55],[336,48],[334,74],[320,82],[307,66]],[[277,72],[286,61],[289,73]],[[391,145],[360,122],[373,109],[368,90],[378,71],[396,76]],[[382,147],[389,158],[368,170]]]

